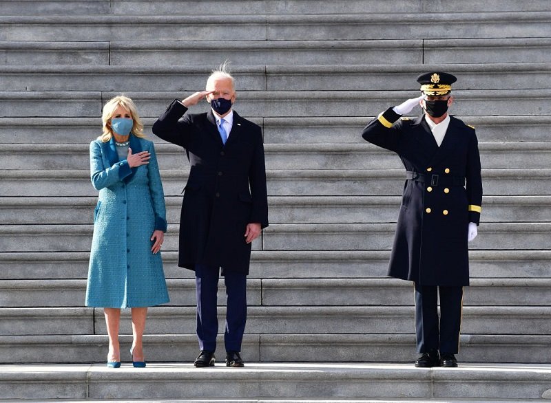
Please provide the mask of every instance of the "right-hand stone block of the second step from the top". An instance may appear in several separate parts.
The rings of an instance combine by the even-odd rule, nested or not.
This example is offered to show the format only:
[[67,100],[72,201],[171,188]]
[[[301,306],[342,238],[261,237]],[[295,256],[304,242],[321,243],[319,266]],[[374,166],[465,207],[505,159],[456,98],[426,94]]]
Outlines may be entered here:
[[549,12],[280,15],[267,18],[267,39],[526,38],[547,32]]

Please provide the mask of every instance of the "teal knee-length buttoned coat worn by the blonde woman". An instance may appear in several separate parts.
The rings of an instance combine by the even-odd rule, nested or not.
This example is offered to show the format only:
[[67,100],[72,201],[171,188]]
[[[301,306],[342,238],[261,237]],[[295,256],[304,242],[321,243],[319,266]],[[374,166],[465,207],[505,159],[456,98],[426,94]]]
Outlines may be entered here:
[[132,153],[149,151],[149,164],[130,168],[113,139],[90,143],[90,175],[99,190],[86,306],[150,307],[169,301],[154,230],[166,232],[165,198],[153,142],[130,135]]

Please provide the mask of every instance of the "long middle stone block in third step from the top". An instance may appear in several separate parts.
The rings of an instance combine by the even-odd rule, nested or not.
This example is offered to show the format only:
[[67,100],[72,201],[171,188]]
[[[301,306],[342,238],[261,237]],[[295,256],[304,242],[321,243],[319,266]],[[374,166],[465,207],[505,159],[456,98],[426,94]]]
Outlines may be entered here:
[[[202,2],[201,2],[202,3]],[[541,49],[539,47],[538,49]],[[185,56],[184,56],[185,55]],[[133,65],[135,58],[151,66],[219,65],[383,65],[422,63],[422,41],[112,41],[110,64]]]

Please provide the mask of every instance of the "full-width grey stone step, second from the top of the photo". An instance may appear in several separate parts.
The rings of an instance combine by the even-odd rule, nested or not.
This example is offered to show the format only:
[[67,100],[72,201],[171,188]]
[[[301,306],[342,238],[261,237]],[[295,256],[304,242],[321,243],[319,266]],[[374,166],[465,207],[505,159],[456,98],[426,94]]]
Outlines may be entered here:
[[[346,10],[349,12],[349,10]],[[186,14],[183,12],[183,14]],[[210,13],[209,13],[210,14]],[[547,32],[551,12],[0,17],[0,41],[350,40],[526,38]],[[396,29],[401,27],[401,29]],[[407,32],[407,34],[404,34]]]

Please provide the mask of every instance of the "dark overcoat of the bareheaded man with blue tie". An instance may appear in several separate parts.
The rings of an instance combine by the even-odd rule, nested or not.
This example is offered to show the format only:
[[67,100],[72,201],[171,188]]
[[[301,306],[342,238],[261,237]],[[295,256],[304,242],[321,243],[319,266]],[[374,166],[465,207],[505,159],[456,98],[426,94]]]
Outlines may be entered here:
[[233,126],[222,144],[212,111],[186,111],[174,100],[153,125],[158,137],[185,149],[191,164],[180,217],[178,265],[195,270],[200,263],[249,274],[247,224],[268,226],[262,131],[233,111]]

